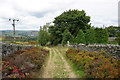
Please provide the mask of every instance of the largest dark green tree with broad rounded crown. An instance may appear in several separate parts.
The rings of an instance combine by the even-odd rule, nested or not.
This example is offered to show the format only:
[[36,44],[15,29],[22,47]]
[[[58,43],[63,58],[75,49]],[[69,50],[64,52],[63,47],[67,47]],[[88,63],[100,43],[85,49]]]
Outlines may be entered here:
[[49,32],[55,38],[53,41],[58,44],[61,43],[62,34],[66,29],[69,30],[73,37],[76,37],[80,29],[84,31],[90,28],[89,22],[90,17],[86,16],[84,10],[68,10],[55,18],[53,21],[54,26],[49,28]]

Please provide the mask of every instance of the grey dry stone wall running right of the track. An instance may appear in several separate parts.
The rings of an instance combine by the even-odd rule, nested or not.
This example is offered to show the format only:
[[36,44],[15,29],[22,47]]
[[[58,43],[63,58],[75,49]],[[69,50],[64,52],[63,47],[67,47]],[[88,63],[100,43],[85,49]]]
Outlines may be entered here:
[[72,44],[68,47],[74,49],[81,49],[83,51],[105,51],[107,54],[113,56],[114,58],[120,59],[120,45],[112,45],[112,44],[93,44],[93,45],[85,45],[85,44]]

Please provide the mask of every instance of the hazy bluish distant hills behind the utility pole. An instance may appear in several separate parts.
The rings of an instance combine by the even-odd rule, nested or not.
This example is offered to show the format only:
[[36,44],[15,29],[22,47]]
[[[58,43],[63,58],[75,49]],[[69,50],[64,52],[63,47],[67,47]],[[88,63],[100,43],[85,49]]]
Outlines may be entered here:
[[[39,31],[29,30],[16,30],[16,36],[38,36]],[[0,31],[0,36],[13,36],[13,30],[2,30]]]

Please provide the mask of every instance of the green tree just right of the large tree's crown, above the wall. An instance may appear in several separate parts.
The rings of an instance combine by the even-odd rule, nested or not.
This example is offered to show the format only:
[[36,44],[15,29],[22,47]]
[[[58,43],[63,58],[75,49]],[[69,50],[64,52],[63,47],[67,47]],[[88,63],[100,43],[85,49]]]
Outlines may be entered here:
[[85,40],[86,40],[86,43],[95,43],[95,31],[94,31],[94,28],[90,28],[90,29],[87,29],[86,30],[86,33],[85,33]]

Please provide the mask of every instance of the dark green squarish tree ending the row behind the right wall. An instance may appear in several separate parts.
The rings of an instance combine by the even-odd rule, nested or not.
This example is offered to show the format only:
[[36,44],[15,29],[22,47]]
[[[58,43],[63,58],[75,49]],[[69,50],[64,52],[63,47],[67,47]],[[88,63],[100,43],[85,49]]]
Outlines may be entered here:
[[102,28],[95,29],[96,43],[108,43],[108,31]]

